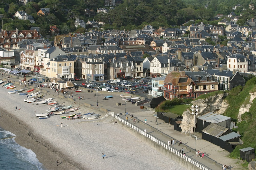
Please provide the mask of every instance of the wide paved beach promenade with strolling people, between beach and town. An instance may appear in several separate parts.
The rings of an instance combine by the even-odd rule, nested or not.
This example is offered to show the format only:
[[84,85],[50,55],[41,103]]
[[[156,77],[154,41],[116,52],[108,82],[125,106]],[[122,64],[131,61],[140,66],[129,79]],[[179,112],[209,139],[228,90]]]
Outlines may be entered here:
[[[10,79],[13,81],[19,81],[14,76],[12,76]],[[35,85],[33,85],[35,87]],[[31,88],[31,87],[30,87]],[[69,95],[63,96],[61,93],[59,93],[59,96],[56,92],[53,92],[50,88],[41,88],[43,90],[46,90],[47,93],[50,93],[51,95],[54,95],[56,98],[65,98],[66,100],[70,100]],[[39,89],[37,89],[39,90]],[[128,122],[133,124],[133,119],[131,119],[131,114],[133,114],[134,118],[136,119],[136,123],[133,124],[136,127],[144,130],[146,129],[147,134],[152,135],[153,137],[157,138],[158,140],[161,140],[162,142],[165,142],[167,144],[168,140],[174,139],[175,144],[173,146],[170,146],[176,150],[184,149],[184,153],[189,158],[193,159],[194,161],[198,162],[202,166],[208,168],[208,169],[221,169],[222,164],[228,165],[229,169],[243,169],[237,162],[238,160],[234,160],[231,158],[228,158],[229,152],[221,149],[220,147],[213,145],[210,142],[207,142],[203,139],[201,139],[201,134],[197,133],[198,136],[197,140],[192,138],[192,134],[184,134],[182,132],[177,132],[173,129],[173,125],[169,125],[167,123],[164,123],[163,120],[158,119],[158,125],[155,124],[156,118],[153,116],[153,111],[148,111],[146,109],[140,109],[139,106],[134,106],[131,102],[127,102],[126,106],[124,101],[121,100],[120,95],[115,95],[112,93],[113,98],[109,100],[103,100],[104,94],[100,94],[100,91],[98,92],[98,103],[99,108],[96,106],[96,100],[97,97],[94,97],[93,93],[85,93],[82,92],[74,92],[71,90],[68,90],[67,93],[73,93],[73,101],[70,101],[70,103],[76,103],[79,105],[88,106],[88,104],[95,110],[95,112],[100,112],[101,117],[103,117],[108,112],[114,112],[114,114],[117,113],[123,113],[122,117],[119,114],[119,116],[126,120],[125,116],[125,109],[128,112]],[[84,96],[84,100],[79,100],[78,96]],[[117,102],[121,102],[121,106],[116,106]],[[145,103],[145,106],[147,104]],[[101,108],[106,110],[106,112],[102,112]],[[83,113],[84,114],[84,113]],[[107,117],[106,119],[110,119],[111,116]],[[111,119],[114,119],[111,117]],[[144,120],[147,120],[146,123]],[[157,129],[156,129],[157,126]],[[121,126],[122,127],[122,126]],[[195,134],[193,134],[195,135]],[[178,146],[178,141],[181,140],[182,144]],[[200,152],[205,153],[204,158],[196,157],[196,150],[200,150]]]

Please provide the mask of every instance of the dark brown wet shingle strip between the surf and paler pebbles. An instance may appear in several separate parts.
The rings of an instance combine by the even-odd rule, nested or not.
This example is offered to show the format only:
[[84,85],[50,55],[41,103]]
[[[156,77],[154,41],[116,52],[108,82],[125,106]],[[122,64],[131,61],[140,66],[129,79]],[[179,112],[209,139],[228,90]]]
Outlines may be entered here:
[[20,146],[35,152],[37,159],[43,164],[44,169],[58,169],[60,166],[56,166],[57,160],[59,160],[59,164],[65,166],[65,169],[80,169],[76,167],[77,163],[65,159],[65,156],[58,149],[52,148],[49,144],[46,146],[42,139],[37,138],[29,127],[17,120],[17,117],[6,113],[3,109],[1,109],[0,127],[15,134],[14,140]]

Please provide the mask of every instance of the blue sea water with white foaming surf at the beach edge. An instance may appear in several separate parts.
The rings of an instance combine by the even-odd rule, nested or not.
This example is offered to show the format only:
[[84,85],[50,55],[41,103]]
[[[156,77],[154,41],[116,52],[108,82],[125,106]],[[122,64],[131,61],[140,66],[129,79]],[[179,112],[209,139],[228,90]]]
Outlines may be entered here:
[[[15,142],[11,132],[0,128],[0,169],[43,169],[35,152]],[[7,139],[3,139],[7,138]]]

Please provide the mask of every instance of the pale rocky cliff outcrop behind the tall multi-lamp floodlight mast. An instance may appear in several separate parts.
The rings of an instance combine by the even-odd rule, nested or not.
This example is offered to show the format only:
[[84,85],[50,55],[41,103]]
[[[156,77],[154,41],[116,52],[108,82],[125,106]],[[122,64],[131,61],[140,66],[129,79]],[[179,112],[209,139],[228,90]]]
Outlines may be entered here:
[[[227,93],[218,94],[215,96],[208,97],[206,99],[198,99],[195,101],[192,101],[193,105],[198,106],[198,115],[201,116],[208,112],[214,112],[217,114],[223,114],[225,110],[228,107],[228,104],[226,103],[226,96]],[[182,128],[182,131],[189,132],[189,129],[194,127],[195,117],[191,114],[191,109],[187,109],[183,112],[183,120],[182,124],[180,124],[180,127]]]

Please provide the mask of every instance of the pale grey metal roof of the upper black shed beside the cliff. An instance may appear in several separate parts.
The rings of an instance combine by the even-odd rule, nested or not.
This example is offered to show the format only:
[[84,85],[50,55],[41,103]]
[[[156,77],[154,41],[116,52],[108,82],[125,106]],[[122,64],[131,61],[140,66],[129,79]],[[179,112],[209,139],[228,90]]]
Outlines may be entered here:
[[216,114],[212,112],[208,112],[202,116],[198,116],[197,119],[204,120],[210,123],[219,123],[225,120],[231,119],[231,117],[223,116],[221,114]]

